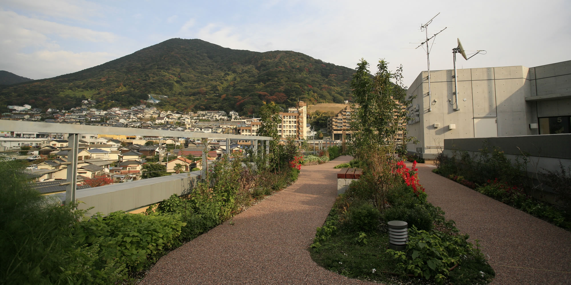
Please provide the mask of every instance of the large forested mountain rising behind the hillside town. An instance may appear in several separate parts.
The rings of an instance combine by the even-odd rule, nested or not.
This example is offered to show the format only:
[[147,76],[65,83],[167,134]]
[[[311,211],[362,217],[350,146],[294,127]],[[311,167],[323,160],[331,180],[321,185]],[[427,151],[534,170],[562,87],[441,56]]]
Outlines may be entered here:
[[169,39],[86,70],[0,87],[0,107],[30,104],[70,108],[140,104],[148,94],[168,96],[162,109],[257,113],[262,101],[282,107],[343,103],[355,70],[294,51],[232,50],[200,39]]

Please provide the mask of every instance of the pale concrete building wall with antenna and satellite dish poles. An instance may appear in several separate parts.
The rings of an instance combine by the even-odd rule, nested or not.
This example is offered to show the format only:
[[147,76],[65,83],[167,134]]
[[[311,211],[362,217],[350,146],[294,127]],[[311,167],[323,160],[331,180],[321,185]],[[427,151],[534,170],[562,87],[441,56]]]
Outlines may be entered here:
[[[419,149],[421,157],[430,159],[447,139],[538,135],[537,128],[529,127],[538,117],[571,115],[571,61],[457,70],[459,110],[453,74],[431,71],[430,100],[427,71],[409,87],[408,95],[416,99],[408,108],[414,117],[407,125],[408,135],[420,141],[408,144],[409,152]],[[456,128],[448,128],[450,124]]]

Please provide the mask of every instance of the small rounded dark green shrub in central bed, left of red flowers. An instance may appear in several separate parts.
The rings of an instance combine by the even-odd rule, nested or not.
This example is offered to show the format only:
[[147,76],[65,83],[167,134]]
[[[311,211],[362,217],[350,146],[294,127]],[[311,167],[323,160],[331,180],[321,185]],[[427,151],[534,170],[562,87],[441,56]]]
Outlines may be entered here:
[[371,233],[379,227],[381,214],[371,203],[356,201],[349,207],[347,218],[347,226],[351,231]]

